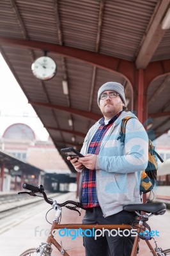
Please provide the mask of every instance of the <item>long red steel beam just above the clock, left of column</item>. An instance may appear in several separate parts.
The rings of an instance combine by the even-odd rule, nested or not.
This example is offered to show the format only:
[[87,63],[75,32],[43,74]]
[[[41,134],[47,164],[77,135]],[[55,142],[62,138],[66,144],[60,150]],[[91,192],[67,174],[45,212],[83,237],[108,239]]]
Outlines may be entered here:
[[19,47],[22,49],[42,49],[43,51],[54,52],[59,56],[73,58],[98,68],[103,68],[110,72],[118,72],[127,78],[131,84],[134,84],[135,64],[132,61],[121,60],[105,54],[85,51],[73,47],[18,38],[0,37],[0,45],[12,45],[13,47]]

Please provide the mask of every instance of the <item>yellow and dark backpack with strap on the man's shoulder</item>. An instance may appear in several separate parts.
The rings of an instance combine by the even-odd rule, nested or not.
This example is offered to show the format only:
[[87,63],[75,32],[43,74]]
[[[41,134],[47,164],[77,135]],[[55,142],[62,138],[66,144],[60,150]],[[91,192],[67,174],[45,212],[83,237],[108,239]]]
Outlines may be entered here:
[[[127,116],[123,118],[121,122],[121,131],[120,136],[117,140],[125,143],[125,129],[129,119],[135,118],[132,116]],[[137,118],[136,118],[137,119]],[[151,140],[148,141],[148,166],[145,170],[141,173],[141,184],[140,184],[140,191],[143,193],[150,192],[153,187],[157,184],[157,170],[158,170],[158,163],[157,157],[163,163],[164,161],[155,151],[155,147],[151,143]]]

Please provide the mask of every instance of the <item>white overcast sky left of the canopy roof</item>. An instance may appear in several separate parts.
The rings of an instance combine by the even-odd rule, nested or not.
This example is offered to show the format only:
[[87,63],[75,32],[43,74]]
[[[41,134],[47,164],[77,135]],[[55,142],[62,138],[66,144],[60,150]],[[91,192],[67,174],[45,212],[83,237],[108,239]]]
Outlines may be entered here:
[[[30,67],[31,68],[31,67]],[[15,123],[27,124],[33,129],[37,139],[47,140],[49,134],[43,128],[34,109],[15,80],[10,68],[0,53],[0,136],[5,129]]]

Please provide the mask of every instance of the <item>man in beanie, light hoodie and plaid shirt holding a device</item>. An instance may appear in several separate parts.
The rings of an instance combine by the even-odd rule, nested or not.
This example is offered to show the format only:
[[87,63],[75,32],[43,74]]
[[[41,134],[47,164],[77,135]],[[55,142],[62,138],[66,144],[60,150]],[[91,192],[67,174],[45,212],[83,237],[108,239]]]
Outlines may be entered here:
[[[134,213],[123,211],[123,205],[139,204],[141,171],[148,163],[148,136],[137,118],[126,125],[125,143],[120,140],[121,121],[126,116],[125,93],[120,83],[108,82],[98,90],[98,106],[104,115],[84,140],[81,154],[70,159],[80,177],[80,202],[86,209],[84,224],[132,223]],[[131,237],[84,236],[86,256],[104,256],[109,248],[111,256],[129,256]]]

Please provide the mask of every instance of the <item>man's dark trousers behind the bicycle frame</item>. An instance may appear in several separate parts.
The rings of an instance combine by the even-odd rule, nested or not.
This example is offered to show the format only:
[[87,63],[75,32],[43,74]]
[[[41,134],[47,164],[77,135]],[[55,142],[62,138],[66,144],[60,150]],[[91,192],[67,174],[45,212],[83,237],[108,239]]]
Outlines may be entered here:
[[[134,212],[121,211],[104,218],[102,209],[94,207],[93,212],[86,211],[82,223],[116,225],[122,223],[131,224],[134,220]],[[104,236],[98,236],[97,239],[84,236],[86,256],[130,256],[133,243],[134,237],[109,236],[108,232],[105,232]]]

